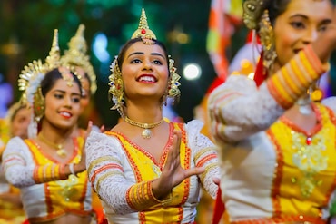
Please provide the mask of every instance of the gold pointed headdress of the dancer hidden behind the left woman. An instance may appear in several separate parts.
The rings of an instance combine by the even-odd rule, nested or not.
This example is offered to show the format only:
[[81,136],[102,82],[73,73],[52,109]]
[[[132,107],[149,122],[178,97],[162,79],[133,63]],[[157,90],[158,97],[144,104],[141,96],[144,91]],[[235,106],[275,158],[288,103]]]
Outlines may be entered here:
[[[68,43],[69,50],[64,51],[64,55],[61,58],[61,63],[70,68],[70,70],[77,74],[75,66],[82,67],[84,72],[87,73],[90,79],[90,92],[94,94],[97,89],[96,75],[94,73],[94,67],[90,63],[90,57],[86,54],[87,45],[84,38],[84,24],[80,24],[76,34],[71,38]],[[77,74],[79,80],[83,77]]]

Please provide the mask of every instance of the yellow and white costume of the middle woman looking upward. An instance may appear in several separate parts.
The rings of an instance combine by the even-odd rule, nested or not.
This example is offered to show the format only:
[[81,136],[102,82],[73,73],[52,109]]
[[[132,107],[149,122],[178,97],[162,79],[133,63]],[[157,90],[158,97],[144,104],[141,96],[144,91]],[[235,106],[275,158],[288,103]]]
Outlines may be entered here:
[[[86,164],[93,189],[103,202],[106,217],[118,223],[194,223],[200,190],[212,198],[217,185],[217,153],[212,141],[200,133],[203,124],[170,122],[170,138],[160,161],[123,134],[92,131],[86,141]],[[173,130],[182,131],[181,164],[184,169],[205,167],[201,175],[183,180],[163,200],[153,197],[151,183],[158,178],[166,162]]]

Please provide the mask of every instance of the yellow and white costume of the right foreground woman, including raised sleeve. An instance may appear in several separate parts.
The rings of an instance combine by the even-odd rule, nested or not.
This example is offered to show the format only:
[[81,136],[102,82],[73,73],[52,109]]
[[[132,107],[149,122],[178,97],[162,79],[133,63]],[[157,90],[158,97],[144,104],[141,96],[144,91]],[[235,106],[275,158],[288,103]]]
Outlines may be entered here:
[[282,116],[325,72],[307,46],[258,88],[232,75],[209,98],[231,223],[325,223],[336,187],[336,99],[302,131]]

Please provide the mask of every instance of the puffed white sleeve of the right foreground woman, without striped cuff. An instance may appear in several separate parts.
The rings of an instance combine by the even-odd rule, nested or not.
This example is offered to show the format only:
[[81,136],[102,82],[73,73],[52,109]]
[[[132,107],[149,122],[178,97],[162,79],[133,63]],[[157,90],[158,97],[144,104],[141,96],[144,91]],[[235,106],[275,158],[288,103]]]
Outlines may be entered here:
[[218,142],[235,142],[266,130],[284,112],[266,82],[258,88],[245,75],[232,75],[209,97],[211,131]]

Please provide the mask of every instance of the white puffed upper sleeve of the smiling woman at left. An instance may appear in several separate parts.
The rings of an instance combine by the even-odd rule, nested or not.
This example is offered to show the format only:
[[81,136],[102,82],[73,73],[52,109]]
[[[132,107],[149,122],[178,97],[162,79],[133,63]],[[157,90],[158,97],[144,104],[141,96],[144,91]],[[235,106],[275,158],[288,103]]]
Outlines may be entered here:
[[16,188],[35,185],[35,163],[28,146],[21,138],[15,137],[8,141],[3,154],[3,168],[6,180]]

